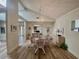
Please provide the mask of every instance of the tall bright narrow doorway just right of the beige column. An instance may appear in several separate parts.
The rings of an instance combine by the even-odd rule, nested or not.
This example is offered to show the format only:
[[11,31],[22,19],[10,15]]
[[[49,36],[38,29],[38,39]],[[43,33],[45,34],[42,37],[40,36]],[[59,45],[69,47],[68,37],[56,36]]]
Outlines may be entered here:
[[25,24],[22,21],[19,21],[19,46],[25,44]]

